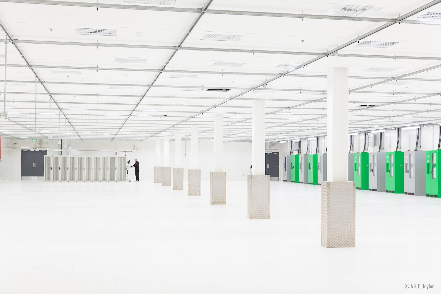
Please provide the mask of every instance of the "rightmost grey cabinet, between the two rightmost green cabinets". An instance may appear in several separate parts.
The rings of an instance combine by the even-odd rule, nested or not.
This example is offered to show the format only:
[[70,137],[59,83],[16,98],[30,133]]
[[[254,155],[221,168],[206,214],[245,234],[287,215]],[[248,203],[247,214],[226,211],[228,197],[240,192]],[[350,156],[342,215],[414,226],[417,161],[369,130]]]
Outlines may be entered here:
[[426,195],[426,152],[404,152],[404,194]]

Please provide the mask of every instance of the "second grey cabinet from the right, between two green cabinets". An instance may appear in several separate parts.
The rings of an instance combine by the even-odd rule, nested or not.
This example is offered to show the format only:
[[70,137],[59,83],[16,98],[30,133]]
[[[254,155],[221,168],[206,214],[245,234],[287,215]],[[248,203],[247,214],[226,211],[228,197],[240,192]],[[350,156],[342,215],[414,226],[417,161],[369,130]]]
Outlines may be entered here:
[[386,153],[384,152],[369,153],[369,190],[386,191]]

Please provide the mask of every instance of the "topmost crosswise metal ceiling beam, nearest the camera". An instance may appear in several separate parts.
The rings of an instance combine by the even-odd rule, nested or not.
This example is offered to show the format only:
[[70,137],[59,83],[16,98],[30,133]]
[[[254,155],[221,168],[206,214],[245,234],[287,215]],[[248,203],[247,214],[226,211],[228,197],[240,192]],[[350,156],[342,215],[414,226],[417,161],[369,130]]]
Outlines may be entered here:
[[[248,16],[265,16],[265,17],[282,17],[295,19],[327,19],[327,20],[348,20],[357,22],[392,22],[394,19],[358,17],[358,16],[336,16],[336,15],[313,15],[299,13],[278,13],[278,12],[260,12],[260,11],[234,11],[202,8],[180,8],[180,7],[163,7],[163,6],[146,6],[146,5],[130,5],[130,4],[107,4],[107,3],[86,3],[74,1],[51,1],[51,0],[0,0],[0,2],[24,3],[24,4],[42,4],[56,6],[73,6],[73,7],[90,7],[90,8],[110,8],[110,9],[130,9],[130,10],[147,10],[147,11],[167,11],[167,12],[184,12],[184,13],[209,13],[218,15],[248,15]],[[439,25],[439,22],[402,20],[403,23],[413,24],[431,24]]]

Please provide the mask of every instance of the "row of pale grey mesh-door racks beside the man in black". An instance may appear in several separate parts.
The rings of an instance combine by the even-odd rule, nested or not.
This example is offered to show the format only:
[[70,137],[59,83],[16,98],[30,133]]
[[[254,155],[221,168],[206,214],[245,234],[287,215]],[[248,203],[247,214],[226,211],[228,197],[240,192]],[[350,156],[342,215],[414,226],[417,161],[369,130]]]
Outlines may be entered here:
[[45,182],[126,182],[125,156],[46,155]]

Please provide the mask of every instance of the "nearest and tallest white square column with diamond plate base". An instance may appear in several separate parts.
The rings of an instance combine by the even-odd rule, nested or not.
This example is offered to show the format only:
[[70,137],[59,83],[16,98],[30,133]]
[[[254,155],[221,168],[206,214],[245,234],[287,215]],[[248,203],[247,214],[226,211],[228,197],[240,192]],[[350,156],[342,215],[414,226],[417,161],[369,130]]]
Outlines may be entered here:
[[355,183],[348,182],[348,68],[328,71],[327,181],[321,182],[321,245],[355,247]]

